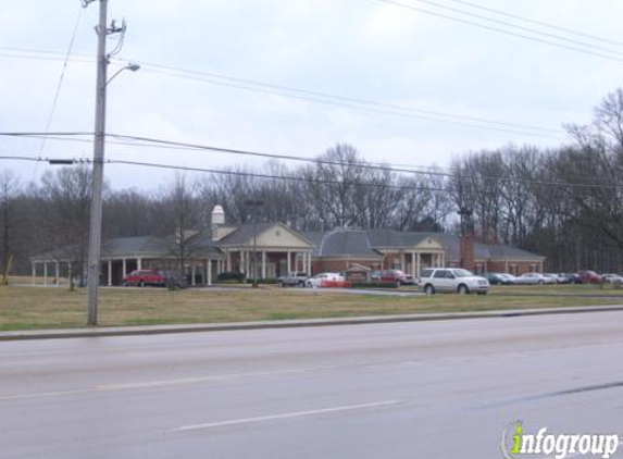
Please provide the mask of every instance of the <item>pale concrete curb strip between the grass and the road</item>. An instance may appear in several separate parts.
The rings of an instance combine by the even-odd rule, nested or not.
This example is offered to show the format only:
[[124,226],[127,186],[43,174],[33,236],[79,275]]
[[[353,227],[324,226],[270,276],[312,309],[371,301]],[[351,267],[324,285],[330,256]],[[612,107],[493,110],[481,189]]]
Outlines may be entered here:
[[344,319],[307,319],[288,321],[236,322],[197,325],[115,326],[102,328],[40,330],[0,332],[0,342],[61,338],[95,338],[109,336],[142,336],[173,333],[232,332],[244,330],[297,328],[310,326],[367,325],[377,323],[428,322],[465,319],[499,319],[529,315],[576,314],[588,312],[623,311],[623,305],[578,308],[514,309],[507,311],[447,312],[401,315],[373,315]]

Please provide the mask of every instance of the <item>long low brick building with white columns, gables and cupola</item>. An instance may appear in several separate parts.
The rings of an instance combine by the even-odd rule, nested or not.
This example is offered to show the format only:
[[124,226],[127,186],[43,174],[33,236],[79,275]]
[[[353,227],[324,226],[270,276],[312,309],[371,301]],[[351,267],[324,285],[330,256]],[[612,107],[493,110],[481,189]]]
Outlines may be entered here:
[[[414,277],[427,266],[466,266],[476,273],[543,272],[545,258],[514,247],[463,240],[440,233],[395,230],[334,230],[300,233],[283,223],[229,225],[221,206],[209,228],[180,235],[123,237],[104,240],[101,282],[120,285],[135,269],[176,270],[180,260],[190,283],[211,285],[219,273],[240,272],[274,278],[292,271],[372,271],[400,269]],[[463,247],[461,249],[461,246]],[[61,248],[30,259],[33,277],[72,274],[75,248]],[[471,264],[473,263],[473,266]],[[42,271],[42,272],[41,272]]]

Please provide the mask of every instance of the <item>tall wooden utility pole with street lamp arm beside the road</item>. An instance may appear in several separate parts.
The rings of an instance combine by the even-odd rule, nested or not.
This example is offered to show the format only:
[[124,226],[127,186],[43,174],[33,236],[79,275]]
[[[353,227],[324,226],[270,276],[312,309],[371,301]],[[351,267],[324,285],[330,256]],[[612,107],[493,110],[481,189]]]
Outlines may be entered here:
[[[87,325],[98,323],[98,288],[100,282],[100,256],[101,256],[101,227],[102,227],[102,184],[103,184],[103,162],[105,144],[105,102],[107,102],[107,80],[108,64],[111,54],[107,53],[107,37],[113,34],[125,33],[125,22],[122,27],[116,27],[113,21],[109,28],[108,23],[108,0],[83,0],[83,7],[87,7],[94,1],[100,3],[99,25],[96,27],[98,34],[98,55],[97,55],[97,84],[96,84],[96,124],[94,136],[94,171],[92,171],[92,195],[91,213],[89,226],[89,251],[87,260]],[[120,40],[119,52],[123,40]],[[125,69],[125,67],[124,67]],[[127,66],[129,70],[135,70]],[[119,72],[117,72],[119,74]],[[116,76],[115,74],[114,76]],[[114,77],[113,76],[113,77]],[[112,79],[112,78],[111,78]]]

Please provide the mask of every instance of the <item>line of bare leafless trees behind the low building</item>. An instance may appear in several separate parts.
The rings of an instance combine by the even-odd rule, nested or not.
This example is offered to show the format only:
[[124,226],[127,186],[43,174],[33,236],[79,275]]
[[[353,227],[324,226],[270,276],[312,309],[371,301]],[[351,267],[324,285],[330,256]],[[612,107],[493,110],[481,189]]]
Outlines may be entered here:
[[[506,146],[416,171],[371,163],[338,144],[304,165],[269,162],[222,174],[176,173],[155,193],[104,186],[103,236],[171,236],[207,228],[215,204],[228,223],[283,222],[299,231],[336,227],[460,232],[547,257],[551,271],[623,268],[623,90],[608,95],[588,125],[565,126],[558,148]],[[87,165],[45,172],[36,183],[0,173],[0,261],[29,272],[29,257],[74,251],[85,260],[91,175]],[[263,206],[248,204],[249,199]],[[184,237],[176,249],[184,257]],[[79,266],[77,266],[79,271]]]

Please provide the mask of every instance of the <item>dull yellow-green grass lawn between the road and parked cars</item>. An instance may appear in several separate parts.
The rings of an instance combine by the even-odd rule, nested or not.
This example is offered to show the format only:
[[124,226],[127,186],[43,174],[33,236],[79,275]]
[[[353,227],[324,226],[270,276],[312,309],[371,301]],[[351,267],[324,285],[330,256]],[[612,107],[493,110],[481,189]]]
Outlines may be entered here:
[[[0,287],[0,331],[79,327],[86,291],[66,287]],[[101,288],[100,324],[146,325],[313,319],[416,312],[487,311],[621,303],[613,298],[457,296],[390,297],[322,290]]]

